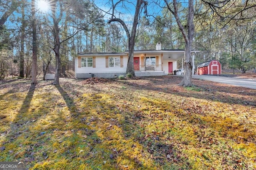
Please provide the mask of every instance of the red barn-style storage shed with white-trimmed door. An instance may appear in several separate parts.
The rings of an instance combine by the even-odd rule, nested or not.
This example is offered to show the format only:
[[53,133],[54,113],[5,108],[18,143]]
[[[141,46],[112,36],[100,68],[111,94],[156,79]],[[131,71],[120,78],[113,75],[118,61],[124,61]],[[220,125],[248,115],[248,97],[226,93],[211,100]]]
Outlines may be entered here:
[[197,67],[197,74],[221,74],[221,64],[218,60],[201,63]]

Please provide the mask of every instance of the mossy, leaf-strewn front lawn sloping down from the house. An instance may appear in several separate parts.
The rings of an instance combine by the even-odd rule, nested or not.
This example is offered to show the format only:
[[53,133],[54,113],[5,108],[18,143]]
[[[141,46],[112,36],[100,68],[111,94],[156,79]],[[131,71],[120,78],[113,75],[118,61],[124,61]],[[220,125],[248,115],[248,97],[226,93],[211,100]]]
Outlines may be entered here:
[[256,169],[256,90],[180,81],[0,80],[0,161],[33,170]]

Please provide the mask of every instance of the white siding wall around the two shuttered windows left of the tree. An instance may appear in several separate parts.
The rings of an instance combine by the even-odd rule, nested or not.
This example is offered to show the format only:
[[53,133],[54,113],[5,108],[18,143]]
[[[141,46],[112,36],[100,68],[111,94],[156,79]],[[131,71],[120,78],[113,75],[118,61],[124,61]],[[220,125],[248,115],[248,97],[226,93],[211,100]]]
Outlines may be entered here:
[[[120,55],[121,56],[121,55]],[[122,55],[124,58],[124,67],[108,67],[106,68],[106,57],[120,57],[120,56],[78,56],[78,57],[95,57],[95,68],[93,67],[81,67],[78,68],[78,57],[75,59],[75,68],[77,73],[108,73],[108,72],[126,72],[127,55]]]

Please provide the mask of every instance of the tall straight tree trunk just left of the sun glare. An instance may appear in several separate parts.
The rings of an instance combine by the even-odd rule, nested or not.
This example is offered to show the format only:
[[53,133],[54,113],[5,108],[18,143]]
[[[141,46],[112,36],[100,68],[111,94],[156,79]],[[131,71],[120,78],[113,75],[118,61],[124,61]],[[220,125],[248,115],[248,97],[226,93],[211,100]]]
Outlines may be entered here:
[[35,0],[31,0],[32,5],[32,81],[31,84],[37,84],[37,43],[36,43],[36,9]]

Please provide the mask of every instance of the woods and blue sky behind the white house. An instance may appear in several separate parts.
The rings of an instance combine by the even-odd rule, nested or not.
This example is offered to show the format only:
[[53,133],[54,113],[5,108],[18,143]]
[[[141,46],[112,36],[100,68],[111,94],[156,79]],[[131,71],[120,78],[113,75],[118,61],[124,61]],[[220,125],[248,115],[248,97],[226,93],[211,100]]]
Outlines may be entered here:
[[[74,58],[78,53],[128,50],[127,35],[122,25],[118,22],[108,23],[114,3],[101,1],[109,7],[108,11],[90,0],[51,0],[47,1],[49,10],[42,11],[37,6],[38,2],[0,1],[0,78],[10,75],[30,77],[33,51],[37,59],[37,76],[55,73],[58,63],[60,74],[66,76],[74,71]],[[129,30],[132,29],[136,7],[136,1],[131,2],[134,3],[119,3],[115,9],[115,14],[126,22]],[[195,66],[217,59],[225,70],[255,70],[256,2],[210,2],[194,1],[192,49],[200,51],[196,54]],[[32,7],[33,3],[35,8]],[[162,43],[162,49],[184,49],[182,33],[166,6],[161,1],[148,1],[145,4],[147,6],[141,8],[138,18],[134,50],[155,49],[156,43]],[[186,29],[186,1],[178,2],[178,8],[181,23]],[[33,33],[36,35],[34,38]],[[56,58],[57,47],[60,62]],[[182,66],[181,61],[178,64],[178,67]]]

